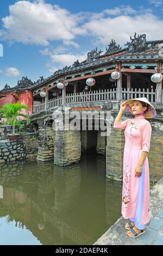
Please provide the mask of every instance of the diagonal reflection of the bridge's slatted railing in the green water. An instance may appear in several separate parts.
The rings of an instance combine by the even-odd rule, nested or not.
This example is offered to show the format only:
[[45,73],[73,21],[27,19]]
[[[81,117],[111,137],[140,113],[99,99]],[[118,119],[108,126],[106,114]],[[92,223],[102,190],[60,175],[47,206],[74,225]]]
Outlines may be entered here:
[[79,233],[73,227],[69,227],[64,221],[60,220],[55,216],[49,215],[47,212],[43,211],[39,204],[32,200],[32,208],[43,218],[43,222],[49,222],[53,227],[60,231],[61,236],[66,236],[68,239],[71,239],[77,245],[90,245],[93,243],[91,239],[85,235]]

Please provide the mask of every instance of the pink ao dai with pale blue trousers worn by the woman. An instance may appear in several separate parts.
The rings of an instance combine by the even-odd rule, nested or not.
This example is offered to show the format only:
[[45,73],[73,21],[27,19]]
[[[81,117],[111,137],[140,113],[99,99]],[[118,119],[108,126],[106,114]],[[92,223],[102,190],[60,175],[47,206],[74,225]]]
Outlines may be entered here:
[[125,137],[123,153],[122,215],[137,222],[143,229],[149,222],[149,164],[146,157],[142,175],[135,177],[135,169],[141,152],[149,152],[152,127],[144,116],[127,119],[114,124],[114,129],[123,129]]

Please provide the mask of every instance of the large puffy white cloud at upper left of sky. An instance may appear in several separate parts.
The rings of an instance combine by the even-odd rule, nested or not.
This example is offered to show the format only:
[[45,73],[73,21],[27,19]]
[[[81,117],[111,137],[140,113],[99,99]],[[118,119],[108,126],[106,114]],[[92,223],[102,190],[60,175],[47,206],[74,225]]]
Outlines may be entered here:
[[[9,6],[9,13],[2,19],[4,29],[0,36],[10,41],[47,46],[53,40],[71,42],[74,34],[80,33],[78,15],[70,14],[58,5],[18,1]],[[71,44],[77,46],[73,41]]]

